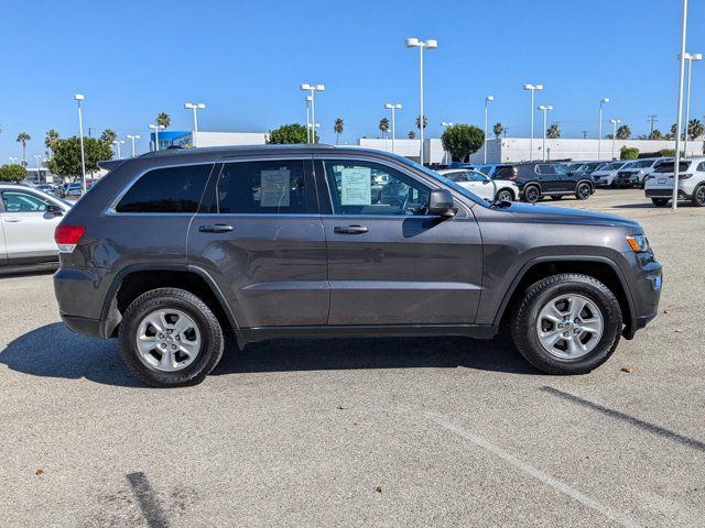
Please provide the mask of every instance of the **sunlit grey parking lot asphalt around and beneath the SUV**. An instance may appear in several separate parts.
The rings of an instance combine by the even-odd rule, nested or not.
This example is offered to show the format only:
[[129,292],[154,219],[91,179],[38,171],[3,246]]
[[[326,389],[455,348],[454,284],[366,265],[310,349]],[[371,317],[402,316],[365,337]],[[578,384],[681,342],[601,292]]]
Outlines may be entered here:
[[558,205],[638,220],[664,266],[659,317],[584,376],[506,336],[273,341],[152,389],[50,274],[0,278],[0,526],[705,526],[705,209]]

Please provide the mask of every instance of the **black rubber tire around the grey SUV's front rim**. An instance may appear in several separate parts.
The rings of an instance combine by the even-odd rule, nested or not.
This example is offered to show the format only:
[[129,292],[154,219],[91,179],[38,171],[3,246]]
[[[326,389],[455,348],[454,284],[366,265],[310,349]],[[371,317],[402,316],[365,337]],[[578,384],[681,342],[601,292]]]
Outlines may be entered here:
[[[577,359],[549,352],[539,340],[536,321],[541,309],[560,295],[581,295],[594,302],[603,315],[603,334],[595,348]],[[619,301],[603,283],[588,275],[565,273],[531,285],[512,311],[511,333],[514,345],[529,363],[546,374],[586,374],[605,363],[621,337]]]

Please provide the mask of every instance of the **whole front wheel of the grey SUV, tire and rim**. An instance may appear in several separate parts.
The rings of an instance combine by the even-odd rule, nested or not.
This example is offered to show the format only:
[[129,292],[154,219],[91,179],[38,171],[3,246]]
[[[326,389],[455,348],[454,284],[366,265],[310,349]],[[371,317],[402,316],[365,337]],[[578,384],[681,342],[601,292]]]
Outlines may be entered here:
[[573,273],[527,289],[512,314],[512,338],[533,366],[547,374],[586,374],[619,343],[621,309],[599,280]]

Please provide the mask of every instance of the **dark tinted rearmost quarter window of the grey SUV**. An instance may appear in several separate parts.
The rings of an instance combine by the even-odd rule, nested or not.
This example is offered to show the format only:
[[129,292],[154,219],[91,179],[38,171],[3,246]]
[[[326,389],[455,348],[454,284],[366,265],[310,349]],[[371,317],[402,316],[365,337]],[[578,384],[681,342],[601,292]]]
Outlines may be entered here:
[[213,165],[184,165],[145,173],[122,197],[117,212],[196,212]]

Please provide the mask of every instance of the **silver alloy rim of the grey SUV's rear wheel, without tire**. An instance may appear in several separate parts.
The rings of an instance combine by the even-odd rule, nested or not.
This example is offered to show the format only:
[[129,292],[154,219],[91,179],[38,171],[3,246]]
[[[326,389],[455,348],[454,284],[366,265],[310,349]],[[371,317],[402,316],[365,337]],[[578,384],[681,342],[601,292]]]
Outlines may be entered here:
[[186,369],[198,356],[200,343],[196,322],[174,309],[160,309],[144,316],[135,337],[140,361],[161,372]]

